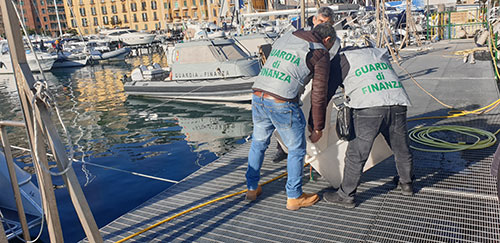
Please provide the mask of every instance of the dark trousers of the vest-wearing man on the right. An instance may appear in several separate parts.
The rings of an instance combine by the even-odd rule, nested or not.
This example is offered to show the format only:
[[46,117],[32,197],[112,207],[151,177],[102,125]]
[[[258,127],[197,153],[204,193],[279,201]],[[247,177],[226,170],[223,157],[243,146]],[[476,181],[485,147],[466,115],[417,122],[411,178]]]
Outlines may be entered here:
[[338,193],[343,198],[354,198],[363,167],[379,133],[394,152],[396,168],[403,184],[411,183],[413,158],[406,127],[406,106],[380,106],[353,110],[355,138],[346,151],[344,178]]

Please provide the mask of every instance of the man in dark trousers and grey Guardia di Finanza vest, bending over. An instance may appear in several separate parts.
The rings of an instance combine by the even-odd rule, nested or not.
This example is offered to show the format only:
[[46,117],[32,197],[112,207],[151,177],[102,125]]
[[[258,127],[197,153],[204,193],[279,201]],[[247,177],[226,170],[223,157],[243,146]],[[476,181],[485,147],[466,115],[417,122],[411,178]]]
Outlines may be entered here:
[[403,195],[413,195],[413,158],[406,122],[410,100],[392,69],[387,49],[357,48],[341,52],[330,66],[328,97],[343,85],[353,109],[355,137],[347,146],[344,176],[337,192],[325,192],[325,201],[354,208],[354,196],[373,142],[382,133],[394,152]]

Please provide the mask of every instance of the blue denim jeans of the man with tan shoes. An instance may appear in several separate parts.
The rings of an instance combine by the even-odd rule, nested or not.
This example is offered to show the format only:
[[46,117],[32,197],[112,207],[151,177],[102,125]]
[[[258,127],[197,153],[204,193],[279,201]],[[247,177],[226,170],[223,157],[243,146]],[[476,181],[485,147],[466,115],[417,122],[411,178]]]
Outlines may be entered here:
[[288,198],[302,195],[304,156],[306,155],[305,118],[298,103],[276,103],[272,99],[252,97],[253,135],[246,173],[249,190],[257,189],[260,168],[271,135],[276,129],[288,148],[286,193]]

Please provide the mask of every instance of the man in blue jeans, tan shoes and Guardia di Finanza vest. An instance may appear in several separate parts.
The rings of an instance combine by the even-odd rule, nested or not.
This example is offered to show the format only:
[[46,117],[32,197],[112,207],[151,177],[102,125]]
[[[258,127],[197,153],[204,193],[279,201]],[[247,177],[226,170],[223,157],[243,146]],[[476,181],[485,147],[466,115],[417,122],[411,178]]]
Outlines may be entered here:
[[325,126],[326,97],[330,55],[328,50],[336,39],[329,24],[320,24],[312,31],[287,32],[274,44],[271,53],[253,85],[252,145],[248,154],[246,173],[247,200],[255,200],[262,193],[259,185],[264,153],[274,130],[288,148],[286,183],[289,210],[308,207],[319,200],[317,194],[303,193],[302,177],[306,154],[306,121],[299,105],[301,90],[312,73],[313,131],[321,137]]

